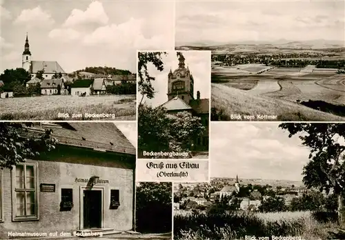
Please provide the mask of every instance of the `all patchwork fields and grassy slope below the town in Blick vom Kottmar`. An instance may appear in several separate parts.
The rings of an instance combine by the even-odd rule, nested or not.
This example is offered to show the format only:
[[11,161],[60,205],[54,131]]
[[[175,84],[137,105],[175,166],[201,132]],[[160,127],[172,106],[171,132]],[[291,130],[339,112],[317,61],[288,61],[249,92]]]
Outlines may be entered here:
[[268,114],[277,115],[278,121],[345,121],[345,114],[336,116],[331,110],[321,112],[317,107],[302,105],[311,100],[345,108],[344,74],[307,67],[273,68],[244,75],[224,68],[213,69],[212,81],[211,107],[224,115],[218,120],[232,120],[231,114]]

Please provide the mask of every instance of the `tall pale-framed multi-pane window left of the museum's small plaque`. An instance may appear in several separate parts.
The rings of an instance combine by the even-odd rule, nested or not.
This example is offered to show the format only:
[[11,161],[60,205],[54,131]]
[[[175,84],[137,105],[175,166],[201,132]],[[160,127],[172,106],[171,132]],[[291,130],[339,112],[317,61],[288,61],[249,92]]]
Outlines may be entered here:
[[12,219],[38,219],[37,163],[19,163],[12,169]]

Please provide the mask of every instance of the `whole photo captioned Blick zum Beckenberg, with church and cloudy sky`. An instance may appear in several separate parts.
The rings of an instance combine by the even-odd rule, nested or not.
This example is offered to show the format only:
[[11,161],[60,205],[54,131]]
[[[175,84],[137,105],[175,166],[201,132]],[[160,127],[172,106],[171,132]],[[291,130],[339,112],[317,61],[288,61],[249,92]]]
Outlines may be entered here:
[[172,1],[0,3],[3,120],[135,120],[137,50],[174,50]]

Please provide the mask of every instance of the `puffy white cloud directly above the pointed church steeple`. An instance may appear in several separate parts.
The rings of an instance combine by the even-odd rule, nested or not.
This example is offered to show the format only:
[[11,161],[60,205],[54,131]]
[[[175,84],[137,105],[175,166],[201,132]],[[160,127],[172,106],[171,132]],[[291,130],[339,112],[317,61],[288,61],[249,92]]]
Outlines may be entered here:
[[25,25],[27,28],[48,27],[55,23],[49,12],[44,11],[41,6],[32,9],[24,9],[14,20],[14,24]]

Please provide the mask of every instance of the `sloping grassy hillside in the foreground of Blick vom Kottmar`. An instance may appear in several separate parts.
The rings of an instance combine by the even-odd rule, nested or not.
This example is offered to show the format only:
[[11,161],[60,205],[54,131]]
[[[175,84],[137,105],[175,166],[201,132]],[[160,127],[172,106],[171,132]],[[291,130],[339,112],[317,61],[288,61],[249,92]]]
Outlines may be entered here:
[[[231,114],[254,116],[254,119],[242,119],[242,121],[344,121],[344,117],[338,117],[328,112],[321,112],[299,105],[297,103],[273,99],[270,97],[255,96],[229,88],[222,84],[212,83],[211,96],[211,120],[235,121]],[[213,114],[213,112],[215,114]],[[276,115],[277,119],[257,119],[257,114]],[[237,120],[238,121],[238,120]]]

